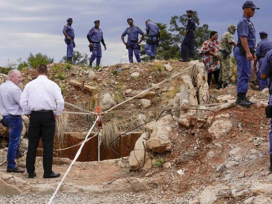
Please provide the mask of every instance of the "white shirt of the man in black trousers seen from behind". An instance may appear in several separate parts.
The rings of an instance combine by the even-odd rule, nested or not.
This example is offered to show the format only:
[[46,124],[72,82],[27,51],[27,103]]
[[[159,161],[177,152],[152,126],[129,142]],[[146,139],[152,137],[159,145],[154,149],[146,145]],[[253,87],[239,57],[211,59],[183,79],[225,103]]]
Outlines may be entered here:
[[64,108],[64,100],[58,84],[40,75],[25,86],[20,106],[26,114],[32,110],[56,110],[59,116]]

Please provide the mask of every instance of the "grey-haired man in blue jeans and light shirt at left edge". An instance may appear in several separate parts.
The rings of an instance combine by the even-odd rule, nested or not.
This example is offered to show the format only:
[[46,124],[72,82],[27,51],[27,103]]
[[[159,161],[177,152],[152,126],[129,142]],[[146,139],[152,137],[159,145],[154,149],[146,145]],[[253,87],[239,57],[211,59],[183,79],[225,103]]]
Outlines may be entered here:
[[19,142],[23,130],[22,115],[20,107],[22,90],[17,86],[20,84],[21,72],[12,69],[8,72],[8,80],[0,86],[0,113],[3,121],[9,127],[9,145],[7,155],[7,172],[23,173],[25,170],[16,166],[15,158],[22,156],[19,150]]

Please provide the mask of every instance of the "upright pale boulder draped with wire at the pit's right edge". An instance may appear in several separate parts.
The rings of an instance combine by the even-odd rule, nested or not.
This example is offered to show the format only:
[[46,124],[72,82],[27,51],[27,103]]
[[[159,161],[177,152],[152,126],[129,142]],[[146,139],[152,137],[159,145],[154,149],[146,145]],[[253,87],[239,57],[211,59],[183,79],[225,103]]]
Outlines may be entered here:
[[130,169],[134,170],[136,168],[141,167],[144,161],[145,161],[145,164],[142,167],[143,170],[147,171],[152,167],[152,161],[149,154],[146,153],[146,159],[145,159],[145,148],[142,144],[142,142],[144,142],[146,146],[146,139],[148,137],[149,137],[149,134],[147,132],[144,132],[136,141],[134,150],[130,152],[130,156],[129,156]]

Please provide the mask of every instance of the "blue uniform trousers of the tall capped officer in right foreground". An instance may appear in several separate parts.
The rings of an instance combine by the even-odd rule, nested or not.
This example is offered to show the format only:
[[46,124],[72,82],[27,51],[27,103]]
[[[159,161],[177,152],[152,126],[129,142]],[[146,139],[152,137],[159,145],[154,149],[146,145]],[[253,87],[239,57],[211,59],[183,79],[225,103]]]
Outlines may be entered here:
[[245,55],[240,54],[239,47],[234,49],[233,55],[237,65],[237,93],[246,93],[251,77],[251,61],[248,61]]

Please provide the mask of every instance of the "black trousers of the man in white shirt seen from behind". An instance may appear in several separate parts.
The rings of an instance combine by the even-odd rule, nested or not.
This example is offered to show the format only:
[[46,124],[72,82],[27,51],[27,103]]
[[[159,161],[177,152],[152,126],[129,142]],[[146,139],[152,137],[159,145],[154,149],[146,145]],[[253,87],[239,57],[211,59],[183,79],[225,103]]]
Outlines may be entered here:
[[55,123],[53,111],[31,112],[26,160],[28,174],[32,174],[35,171],[35,161],[40,138],[42,138],[43,143],[43,171],[45,174],[52,173]]

